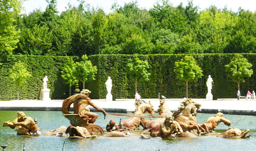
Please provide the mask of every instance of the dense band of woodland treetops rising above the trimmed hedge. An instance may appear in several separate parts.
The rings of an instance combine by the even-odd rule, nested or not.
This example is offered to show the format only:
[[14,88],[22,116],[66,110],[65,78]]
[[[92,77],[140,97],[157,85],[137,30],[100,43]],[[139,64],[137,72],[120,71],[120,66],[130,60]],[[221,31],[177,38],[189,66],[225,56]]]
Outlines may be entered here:
[[[21,0],[3,0],[0,54],[79,56],[93,54],[256,53],[256,12],[209,6],[199,11],[158,0],[150,9],[138,2],[114,3],[112,12],[67,6],[56,0],[46,10],[18,14]],[[7,3],[5,3],[7,2]],[[9,3],[10,2],[10,3]],[[7,40],[8,39],[8,40]],[[4,58],[4,57],[3,57]]]

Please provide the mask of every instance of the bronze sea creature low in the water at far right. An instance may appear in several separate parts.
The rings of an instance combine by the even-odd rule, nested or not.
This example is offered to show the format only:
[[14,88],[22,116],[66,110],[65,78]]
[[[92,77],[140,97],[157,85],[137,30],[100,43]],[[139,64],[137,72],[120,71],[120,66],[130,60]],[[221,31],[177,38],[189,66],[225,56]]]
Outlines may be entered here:
[[218,137],[224,137],[224,138],[249,138],[250,135],[246,136],[246,134],[249,132],[249,129],[246,129],[244,131],[241,131],[237,128],[229,128],[226,129],[225,132],[221,133]]

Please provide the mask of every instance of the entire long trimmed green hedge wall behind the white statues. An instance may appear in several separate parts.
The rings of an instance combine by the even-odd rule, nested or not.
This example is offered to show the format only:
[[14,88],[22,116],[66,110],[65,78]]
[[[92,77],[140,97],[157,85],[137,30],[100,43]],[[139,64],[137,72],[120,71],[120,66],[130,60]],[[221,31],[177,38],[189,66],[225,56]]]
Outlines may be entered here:
[[[158,93],[167,98],[183,98],[186,96],[186,84],[176,78],[174,70],[175,61],[181,60],[186,54],[154,54],[138,55],[141,60],[148,60],[151,73],[148,82],[138,82],[138,91],[142,98],[158,98]],[[256,54],[242,55],[253,64],[256,71]],[[198,65],[203,70],[203,77],[196,82],[188,83],[188,96],[190,98],[205,98],[207,94],[206,81],[208,75],[213,78],[217,98],[236,98],[237,85],[226,77],[225,66],[230,63],[234,54],[193,54]],[[135,81],[132,81],[125,72],[128,59],[133,55],[92,55],[89,60],[97,66],[98,72],[95,80],[85,83],[85,88],[92,91],[90,98],[105,98],[107,89],[105,82],[108,76],[112,79],[113,98],[134,98]],[[64,99],[69,97],[69,85],[64,84],[60,68],[66,63],[66,57],[56,56],[23,56],[16,55],[12,62],[3,63],[0,67],[0,99],[16,99],[17,88],[8,78],[8,71],[16,61],[20,60],[28,68],[32,77],[20,87],[20,99],[37,99],[42,89],[43,78],[48,76],[47,82],[50,98]],[[73,57],[79,61],[79,57]],[[253,74],[240,84],[241,95],[253,91],[256,77]],[[82,88],[82,82],[79,83]],[[72,87],[73,91],[74,87]],[[65,94],[64,94],[65,93]]]

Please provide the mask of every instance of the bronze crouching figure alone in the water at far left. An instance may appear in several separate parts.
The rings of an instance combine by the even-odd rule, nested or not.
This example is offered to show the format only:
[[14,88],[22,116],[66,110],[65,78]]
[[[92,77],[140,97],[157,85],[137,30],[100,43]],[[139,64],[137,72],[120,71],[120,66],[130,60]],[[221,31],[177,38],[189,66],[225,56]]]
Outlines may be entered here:
[[17,135],[41,135],[39,127],[31,117],[23,112],[17,112],[17,114],[18,117],[15,120],[4,122],[3,127],[9,126],[12,129],[17,127]]

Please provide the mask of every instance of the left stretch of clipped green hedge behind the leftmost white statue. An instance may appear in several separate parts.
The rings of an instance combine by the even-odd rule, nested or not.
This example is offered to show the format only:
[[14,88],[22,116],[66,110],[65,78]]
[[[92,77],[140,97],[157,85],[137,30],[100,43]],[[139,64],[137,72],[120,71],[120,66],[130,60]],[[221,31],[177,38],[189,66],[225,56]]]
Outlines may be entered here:
[[[32,75],[20,87],[20,99],[38,99],[43,88],[43,78],[48,76],[47,88],[50,91],[50,98],[67,98],[69,96],[69,85],[64,84],[60,67],[66,63],[67,57],[59,56],[26,56],[15,55],[12,62],[3,63],[0,67],[0,99],[17,99],[17,87],[8,78],[8,71],[14,63],[20,60],[25,64]],[[75,60],[78,57],[74,57]],[[65,93],[65,94],[64,94]]]

